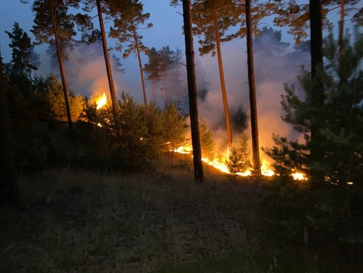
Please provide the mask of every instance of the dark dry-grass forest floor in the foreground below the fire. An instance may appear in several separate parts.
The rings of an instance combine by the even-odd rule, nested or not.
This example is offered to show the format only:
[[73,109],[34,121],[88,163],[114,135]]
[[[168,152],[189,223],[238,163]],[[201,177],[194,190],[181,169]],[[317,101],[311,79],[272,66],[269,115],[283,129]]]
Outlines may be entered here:
[[205,170],[202,185],[176,170],[21,178],[23,208],[0,210],[0,272],[316,272],[279,240],[271,193]]

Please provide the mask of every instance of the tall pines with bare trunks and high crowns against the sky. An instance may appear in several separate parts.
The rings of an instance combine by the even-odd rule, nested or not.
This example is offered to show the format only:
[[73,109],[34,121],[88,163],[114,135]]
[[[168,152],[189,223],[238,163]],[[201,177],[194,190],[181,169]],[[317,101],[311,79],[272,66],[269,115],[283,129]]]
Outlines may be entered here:
[[[144,13],[143,5],[138,0],[34,0],[23,1],[31,5],[31,10],[35,15],[34,25],[31,32],[36,38],[36,44],[46,43],[50,47],[55,48],[60,76],[63,98],[57,94],[54,95],[54,101],[65,105],[66,116],[70,134],[73,134],[73,122],[76,118],[72,117],[72,105],[77,100],[76,96],[71,96],[66,71],[64,67],[64,59],[67,57],[69,50],[82,44],[90,44],[95,41],[102,42],[103,53],[105,57],[105,65],[109,83],[110,98],[113,112],[114,129],[122,137],[122,121],[120,105],[115,94],[113,83],[113,75],[110,66],[110,57],[106,41],[106,30],[104,27],[105,16],[112,20],[113,26],[110,27],[109,36],[118,40],[117,49],[123,51],[123,57],[128,57],[134,53],[140,68],[140,81],[144,97],[144,111],[148,116],[148,101],[145,90],[144,73],[147,79],[152,83],[160,81],[166,108],[169,107],[166,86],[164,84],[164,73],[170,69],[171,65],[181,61],[181,53],[164,47],[160,50],[156,48],[147,48],[142,43],[142,36],[139,31],[141,28],[151,28],[152,23],[148,22],[150,14]],[[171,4],[177,5],[180,1],[173,0]],[[260,172],[259,144],[258,144],[258,125],[257,125],[257,103],[256,88],[254,80],[254,64],[253,64],[253,37],[258,36],[261,30],[258,24],[265,16],[277,15],[274,22],[278,26],[289,26],[290,32],[296,37],[296,42],[300,43],[302,38],[306,38],[307,26],[310,24],[310,50],[311,50],[311,78],[315,82],[315,91],[312,93],[312,104],[315,107],[324,105],[324,83],[318,77],[319,72],[323,70],[323,46],[322,46],[322,28],[326,22],[326,16],[331,9],[339,7],[341,12],[340,34],[339,34],[339,56],[340,64],[343,69],[343,19],[348,12],[348,7],[354,7],[357,1],[310,1],[309,4],[299,5],[294,0],[270,0],[270,1],[238,1],[238,0],[195,0],[181,1],[183,6],[184,19],[184,36],[186,45],[186,70],[188,82],[189,97],[189,114],[191,117],[192,142],[195,161],[196,180],[202,181],[202,166],[200,156],[200,137],[199,137],[199,118],[197,113],[197,83],[195,77],[194,64],[194,46],[193,35],[200,37],[201,45],[199,53],[201,55],[211,53],[217,55],[222,99],[226,118],[228,147],[232,149],[232,133],[231,118],[227,103],[227,90],[224,79],[223,61],[221,53],[221,44],[235,38],[246,37],[247,42],[247,66],[248,66],[248,82],[250,95],[250,118],[252,131],[253,146],[253,163],[257,172]],[[78,13],[71,13],[76,11]],[[99,28],[95,29],[90,13],[97,12],[99,18]],[[356,23],[361,23],[361,10],[353,16]],[[232,32],[231,32],[232,31]],[[76,39],[77,33],[81,33],[81,38]],[[12,67],[14,71],[24,73],[28,76],[30,82],[38,79],[31,79],[31,71],[36,70],[37,56],[33,52],[34,44],[31,44],[29,36],[22,32],[18,24],[15,23],[13,32],[8,32],[12,39],[11,47],[13,48]],[[141,64],[140,53],[144,52],[149,57],[149,63],[144,67]],[[174,66],[175,67],[175,66]],[[174,68],[176,69],[176,68]],[[6,71],[6,69],[5,69]],[[33,84],[30,84],[33,88]],[[73,100],[73,101],[72,101]],[[76,104],[80,103],[78,99]],[[53,103],[52,107],[56,103]],[[52,110],[56,112],[56,110]],[[76,113],[75,113],[76,114]],[[309,139],[309,160],[311,162],[324,161],[324,155],[321,152],[320,143],[322,137],[319,130],[321,124],[325,122],[320,118],[312,119],[310,127]],[[314,165],[311,163],[311,165]],[[312,183],[321,185],[324,183],[324,172],[319,168],[311,168],[308,172],[312,177]]]

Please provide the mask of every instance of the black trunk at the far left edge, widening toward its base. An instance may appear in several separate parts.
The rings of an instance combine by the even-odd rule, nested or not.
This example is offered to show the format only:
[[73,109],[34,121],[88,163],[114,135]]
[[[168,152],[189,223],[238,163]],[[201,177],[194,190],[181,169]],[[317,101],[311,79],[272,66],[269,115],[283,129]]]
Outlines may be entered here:
[[0,54],[0,206],[18,208],[20,194],[16,186],[14,145],[9,119],[5,75]]

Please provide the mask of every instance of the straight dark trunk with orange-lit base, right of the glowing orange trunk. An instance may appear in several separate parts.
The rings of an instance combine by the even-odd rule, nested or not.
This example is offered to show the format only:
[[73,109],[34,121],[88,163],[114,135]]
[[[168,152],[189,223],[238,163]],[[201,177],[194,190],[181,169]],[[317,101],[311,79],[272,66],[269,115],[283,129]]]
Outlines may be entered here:
[[257,103],[255,88],[255,68],[253,61],[253,37],[252,37],[252,14],[251,0],[246,0],[246,29],[247,29],[247,67],[248,86],[250,91],[250,111],[251,111],[251,133],[252,133],[252,155],[253,167],[256,175],[261,175],[261,163],[259,157],[258,125],[257,125]]

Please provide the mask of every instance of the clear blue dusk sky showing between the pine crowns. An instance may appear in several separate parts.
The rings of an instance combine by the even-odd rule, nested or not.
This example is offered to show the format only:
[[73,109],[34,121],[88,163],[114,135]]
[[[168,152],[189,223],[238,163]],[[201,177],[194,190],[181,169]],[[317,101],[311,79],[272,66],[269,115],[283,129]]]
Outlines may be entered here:
[[[30,34],[32,41],[34,37],[30,32],[33,24],[33,14],[30,10],[29,4],[23,4],[20,0],[1,0],[2,6],[0,9],[0,46],[1,55],[4,62],[11,60],[11,49],[8,47],[10,39],[5,31],[11,31],[13,24],[17,21],[20,27]],[[150,13],[150,22],[153,23],[153,28],[143,31],[144,44],[148,47],[161,48],[169,45],[170,48],[184,48],[184,40],[181,33],[182,16],[177,13],[181,13],[181,7],[171,7],[170,0],[141,0],[144,4],[144,11]],[[307,0],[300,0],[305,3]],[[338,9],[333,11],[329,15],[329,19],[333,24],[336,24],[339,20]],[[111,22],[106,23],[106,28],[109,28]],[[349,22],[348,22],[349,24]],[[293,37],[287,34],[287,29],[277,28],[273,25],[272,18],[264,18],[261,21],[261,26],[273,27],[277,30],[282,30],[282,39],[285,42],[294,44]],[[95,27],[97,22],[95,21]],[[197,41],[197,39],[195,39]],[[112,39],[108,39],[109,46],[114,45]],[[41,51],[38,50],[37,51]]]

